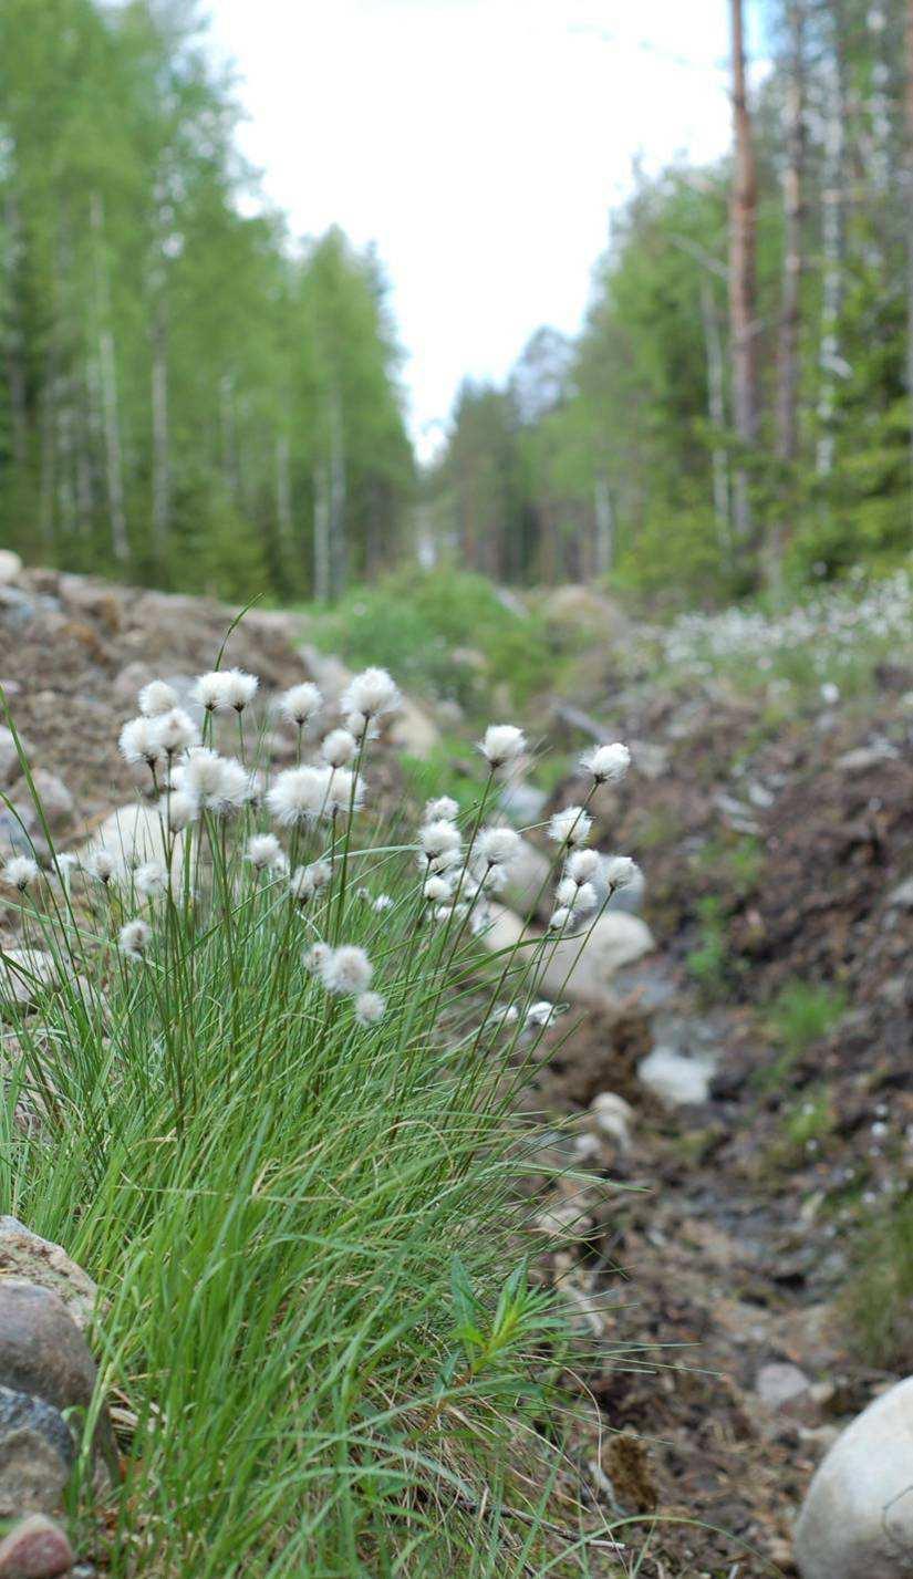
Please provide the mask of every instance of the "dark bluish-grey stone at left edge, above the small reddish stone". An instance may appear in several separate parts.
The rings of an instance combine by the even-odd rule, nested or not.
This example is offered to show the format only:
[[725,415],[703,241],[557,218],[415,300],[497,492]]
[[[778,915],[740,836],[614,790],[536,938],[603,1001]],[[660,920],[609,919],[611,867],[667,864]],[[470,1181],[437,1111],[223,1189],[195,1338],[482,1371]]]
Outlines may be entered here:
[[0,1517],[55,1513],[74,1461],[60,1410],[32,1393],[0,1386]]

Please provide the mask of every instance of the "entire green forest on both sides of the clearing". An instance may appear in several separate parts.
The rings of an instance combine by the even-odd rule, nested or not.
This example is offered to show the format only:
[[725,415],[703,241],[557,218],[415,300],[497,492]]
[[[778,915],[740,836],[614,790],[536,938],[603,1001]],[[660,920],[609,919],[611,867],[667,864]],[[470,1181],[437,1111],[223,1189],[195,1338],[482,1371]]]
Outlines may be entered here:
[[889,568],[911,527],[913,11],[752,14],[755,62],[731,0],[731,152],[637,172],[580,336],[543,327],[504,385],[464,382],[420,472],[381,259],[253,201],[196,6],[5,0],[3,540],[286,602],[417,551],[673,605]]

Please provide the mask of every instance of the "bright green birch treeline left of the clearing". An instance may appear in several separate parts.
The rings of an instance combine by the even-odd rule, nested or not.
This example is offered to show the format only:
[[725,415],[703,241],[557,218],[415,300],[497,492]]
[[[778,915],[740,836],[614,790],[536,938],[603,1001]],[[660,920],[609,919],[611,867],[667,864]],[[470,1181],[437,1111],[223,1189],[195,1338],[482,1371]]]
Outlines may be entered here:
[[194,9],[0,5],[0,540],[330,597],[395,554],[412,485],[384,279],[245,212]]

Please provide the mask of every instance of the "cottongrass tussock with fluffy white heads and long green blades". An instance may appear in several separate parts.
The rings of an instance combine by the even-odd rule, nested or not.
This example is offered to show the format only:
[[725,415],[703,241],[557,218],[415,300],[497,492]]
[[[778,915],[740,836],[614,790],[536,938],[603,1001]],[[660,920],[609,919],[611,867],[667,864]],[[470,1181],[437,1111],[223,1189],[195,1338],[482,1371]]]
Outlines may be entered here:
[[330,709],[292,687],[297,761],[270,772],[254,676],[202,676],[196,715],[147,685],[120,733],[144,848],[74,862],[35,797],[51,859],[2,873],[27,990],[3,973],[0,1210],[101,1288],[123,1478],[100,1538],[85,1446],[71,1511],[115,1576],[616,1571],[567,1489],[512,1116],[559,1012],[542,971],[594,919],[589,813],[553,820],[551,930],[487,954],[523,734],[487,731],[463,824],[439,797],[403,829],[370,774],[396,704],[368,669],[319,742]]

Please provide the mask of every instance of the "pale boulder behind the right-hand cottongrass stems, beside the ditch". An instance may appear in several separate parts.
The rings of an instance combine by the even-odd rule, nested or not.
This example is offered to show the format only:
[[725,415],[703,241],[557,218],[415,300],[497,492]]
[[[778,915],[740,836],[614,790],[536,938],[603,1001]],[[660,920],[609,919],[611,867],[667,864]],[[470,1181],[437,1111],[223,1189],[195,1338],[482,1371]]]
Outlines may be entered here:
[[[535,936],[512,910],[493,906],[491,925],[482,936],[493,952],[499,952],[518,943],[523,933]],[[594,1009],[614,1011],[614,973],[649,954],[652,946],[651,930],[638,916],[607,913],[594,922],[589,933],[545,944],[539,966],[540,990],[553,998],[572,998]]]

